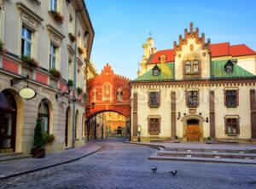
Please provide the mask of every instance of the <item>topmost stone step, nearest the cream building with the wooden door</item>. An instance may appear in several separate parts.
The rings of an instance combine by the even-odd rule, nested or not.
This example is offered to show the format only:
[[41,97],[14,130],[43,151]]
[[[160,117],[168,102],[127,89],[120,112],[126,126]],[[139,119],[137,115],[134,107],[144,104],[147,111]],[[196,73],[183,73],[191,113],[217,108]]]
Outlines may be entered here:
[[224,148],[177,148],[166,147],[166,151],[172,152],[231,152],[231,153],[255,153],[255,150],[248,149],[224,149]]

